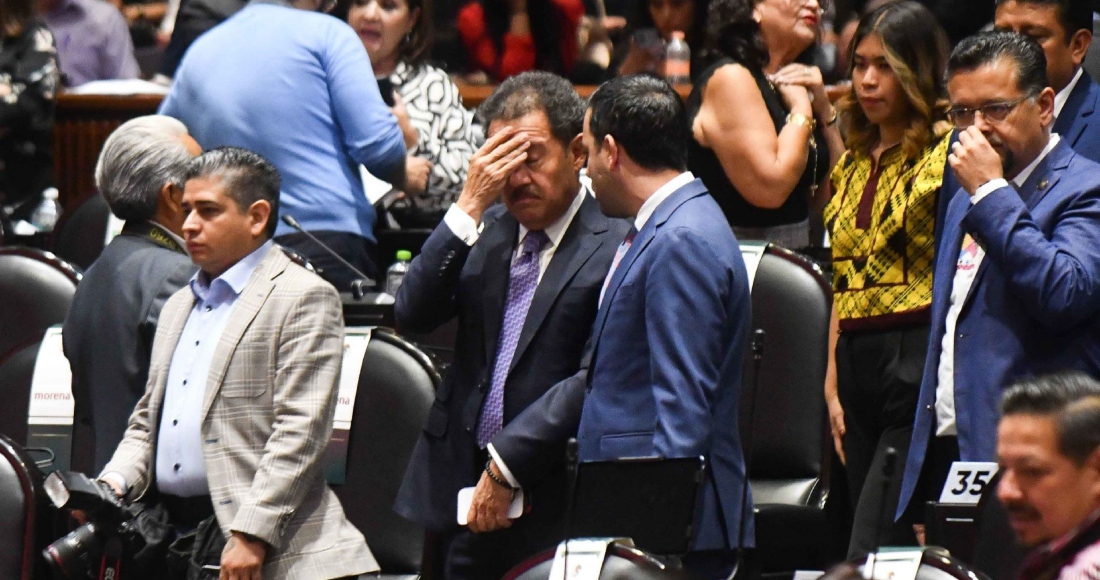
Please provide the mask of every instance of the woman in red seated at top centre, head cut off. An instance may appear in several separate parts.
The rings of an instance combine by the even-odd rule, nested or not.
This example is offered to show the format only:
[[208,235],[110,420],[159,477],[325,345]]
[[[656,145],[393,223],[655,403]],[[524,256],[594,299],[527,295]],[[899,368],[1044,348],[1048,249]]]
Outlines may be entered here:
[[583,15],[581,0],[473,0],[458,29],[469,67],[496,81],[534,69],[568,77]]

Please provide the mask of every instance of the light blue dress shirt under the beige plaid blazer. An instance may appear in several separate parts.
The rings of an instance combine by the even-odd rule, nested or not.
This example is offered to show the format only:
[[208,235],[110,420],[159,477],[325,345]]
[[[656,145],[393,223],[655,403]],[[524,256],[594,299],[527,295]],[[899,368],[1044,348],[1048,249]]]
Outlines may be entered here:
[[207,282],[202,272],[191,278],[195,306],[172,355],[156,442],[156,488],[162,493],[191,497],[208,495],[202,458],[202,400],[210,363],[237,298],[273,242]]

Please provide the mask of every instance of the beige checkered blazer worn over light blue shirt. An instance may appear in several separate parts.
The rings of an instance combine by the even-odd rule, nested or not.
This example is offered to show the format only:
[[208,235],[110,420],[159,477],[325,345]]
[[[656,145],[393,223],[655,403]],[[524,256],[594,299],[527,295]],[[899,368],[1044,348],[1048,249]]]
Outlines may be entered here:
[[[153,482],[168,365],[193,305],[188,286],[165,304],[145,395],[103,469],[125,478],[131,499]],[[243,532],[274,547],[265,580],[323,580],[378,569],[321,474],[342,350],[336,291],[273,248],[241,292],[218,343],[201,434],[222,533]]]

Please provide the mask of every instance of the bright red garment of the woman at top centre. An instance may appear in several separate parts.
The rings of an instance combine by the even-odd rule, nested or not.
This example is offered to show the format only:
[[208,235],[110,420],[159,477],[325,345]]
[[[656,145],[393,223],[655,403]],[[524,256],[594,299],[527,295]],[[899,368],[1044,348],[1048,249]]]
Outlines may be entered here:
[[[576,28],[584,15],[584,4],[581,0],[550,0],[554,10],[562,17],[564,24],[561,31],[561,63],[569,73],[576,61]],[[531,22],[532,28],[546,23]],[[485,12],[480,2],[470,2],[459,10],[457,23],[462,44],[466,47],[466,57],[471,68],[484,70],[496,80],[503,80],[513,75],[536,68],[535,39],[530,35],[518,35],[505,32],[503,53],[498,54],[496,44],[485,22]]]

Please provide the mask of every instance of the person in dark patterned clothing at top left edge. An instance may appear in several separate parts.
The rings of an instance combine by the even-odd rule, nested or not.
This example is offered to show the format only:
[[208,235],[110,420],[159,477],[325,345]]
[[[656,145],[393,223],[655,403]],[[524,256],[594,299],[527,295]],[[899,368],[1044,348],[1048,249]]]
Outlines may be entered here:
[[53,183],[57,47],[34,0],[0,0],[0,206],[28,219]]

